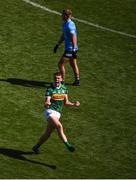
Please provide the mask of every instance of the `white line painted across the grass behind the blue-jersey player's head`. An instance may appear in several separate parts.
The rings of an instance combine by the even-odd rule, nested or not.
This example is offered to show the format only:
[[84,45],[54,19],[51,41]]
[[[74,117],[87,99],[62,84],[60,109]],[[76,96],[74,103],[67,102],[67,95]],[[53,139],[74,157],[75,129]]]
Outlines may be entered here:
[[[24,1],[24,2],[26,2],[28,4],[31,4],[32,6],[38,7],[40,9],[43,9],[44,11],[47,11],[47,12],[50,12],[50,13],[57,14],[57,15],[61,16],[61,13],[59,13],[58,11],[51,10],[51,9],[45,7],[45,6],[41,6],[40,4],[34,3],[32,1],[30,1],[30,0],[22,0],[22,1]],[[107,28],[107,27],[104,27],[104,26],[100,26],[98,24],[94,24],[94,23],[91,23],[89,21],[85,21],[85,20],[78,19],[78,18],[75,18],[75,17],[72,17],[72,18],[74,20],[78,21],[78,22],[81,22],[81,23],[89,25],[89,26],[96,27],[98,29],[102,29],[104,31],[110,31],[112,33],[116,33],[116,34],[120,34],[120,35],[123,35],[123,36],[127,36],[127,37],[130,37],[130,38],[135,38],[136,39],[136,35],[128,34],[128,33],[125,33],[125,32],[114,30],[114,29],[110,29],[110,28]]]

